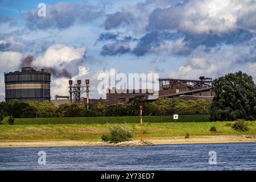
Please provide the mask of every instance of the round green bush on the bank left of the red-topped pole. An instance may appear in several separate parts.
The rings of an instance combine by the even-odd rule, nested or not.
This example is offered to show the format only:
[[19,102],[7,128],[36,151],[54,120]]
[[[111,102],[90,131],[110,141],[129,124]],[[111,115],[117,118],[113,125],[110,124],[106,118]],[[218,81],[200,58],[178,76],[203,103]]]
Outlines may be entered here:
[[115,126],[110,129],[110,142],[118,143],[130,140],[133,133],[127,127]]

